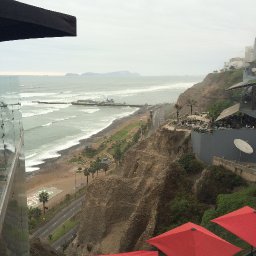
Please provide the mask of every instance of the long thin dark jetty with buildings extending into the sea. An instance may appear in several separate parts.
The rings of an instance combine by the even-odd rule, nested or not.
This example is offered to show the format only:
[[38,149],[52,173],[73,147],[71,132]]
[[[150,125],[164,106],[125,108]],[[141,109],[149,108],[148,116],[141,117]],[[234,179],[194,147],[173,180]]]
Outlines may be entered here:
[[148,104],[127,104],[127,103],[115,103],[114,100],[107,101],[94,101],[94,100],[77,100],[72,102],[62,102],[62,101],[33,101],[38,104],[72,104],[77,106],[97,106],[97,107],[132,107],[132,108],[142,108],[148,107]]

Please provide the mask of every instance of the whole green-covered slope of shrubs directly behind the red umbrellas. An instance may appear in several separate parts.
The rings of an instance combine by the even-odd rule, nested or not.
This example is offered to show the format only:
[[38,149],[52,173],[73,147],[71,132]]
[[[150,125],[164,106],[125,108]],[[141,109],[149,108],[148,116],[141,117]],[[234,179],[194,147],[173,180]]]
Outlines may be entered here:
[[[256,185],[248,186],[240,176],[222,166],[203,168],[197,161],[199,167],[195,168],[194,161],[197,160],[193,154],[185,154],[177,161],[177,166],[172,166],[161,201],[155,234],[190,221],[206,227],[241,248],[249,248],[249,245],[211,220],[245,205],[256,208]],[[203,178],[197,180],[196,193],[191,193],[192,186],[198,179],[195,173],[203,169]]]

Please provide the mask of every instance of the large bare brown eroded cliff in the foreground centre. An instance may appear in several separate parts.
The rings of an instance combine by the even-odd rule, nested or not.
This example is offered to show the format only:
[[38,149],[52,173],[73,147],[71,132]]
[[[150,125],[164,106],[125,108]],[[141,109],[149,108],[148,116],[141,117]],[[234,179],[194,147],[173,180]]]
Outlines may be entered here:
[[172,164],[190,150],[186,132],[158,131],[126,155],[122,165],[87,189],[76,252],[116,253],[147,249],[157,225],[160,203],[171,198],[179,171]]

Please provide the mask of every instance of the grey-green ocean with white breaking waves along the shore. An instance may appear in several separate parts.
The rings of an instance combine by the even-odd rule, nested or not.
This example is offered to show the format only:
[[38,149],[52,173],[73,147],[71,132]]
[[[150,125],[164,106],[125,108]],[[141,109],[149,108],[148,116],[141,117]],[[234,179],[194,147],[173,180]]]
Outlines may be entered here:
[[[38,104],[36,101],[72,102],[114,99],[118,103],[174,103],[179,94],[199,82],[200,77],[0,77],[4,98],[18,84],[25,132],[26,171],[39,169],[59,151],[109,126],[114,120],[134,113],[131,107],[85,107],[71,104]],[[3,85],[8,90],[3,90]],[[9,85],[9,86],[8,86]],[[7,88],[6,87],[6,88]]]

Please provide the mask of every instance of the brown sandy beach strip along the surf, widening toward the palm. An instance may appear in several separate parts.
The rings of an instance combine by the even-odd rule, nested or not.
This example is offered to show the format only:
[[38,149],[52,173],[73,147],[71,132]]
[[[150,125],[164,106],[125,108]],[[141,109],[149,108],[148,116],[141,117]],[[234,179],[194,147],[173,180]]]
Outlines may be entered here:
[[[71,163],[70,159],[79,155],[86,146],[96,143],[104,137],[111,136],[119,129],[129,125],[136,120],[147,118],[148,111],[140,109],[134,114],[115,120],[110,126],[93,135],[92,137],[80,141],[80,144],[59,152],[60,157],[49,159],[40,165],[40,170],[27,173],[26,186],[29,206],[38,206],[37,195],[41,190],[47,190],[50,194],[48,206],[51,207],[65,199],[67,194],[72,194],[76,190],[86,185],[84,174],[76,173],[77,163]],[[100,173],[99,175],[105,175]],[[92,177],[89,176],[89,182]]]

